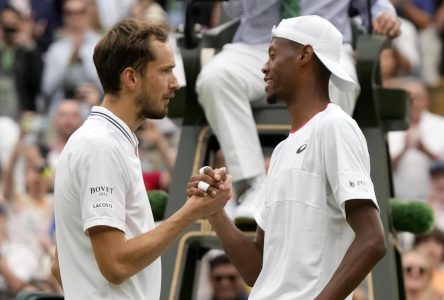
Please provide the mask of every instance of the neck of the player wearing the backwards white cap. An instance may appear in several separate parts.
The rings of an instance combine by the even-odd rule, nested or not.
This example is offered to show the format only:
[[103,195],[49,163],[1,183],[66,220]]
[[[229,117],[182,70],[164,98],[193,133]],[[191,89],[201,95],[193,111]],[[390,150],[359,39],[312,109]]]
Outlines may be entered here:
[[292,131],[298,130],[330,103],[327,87],[309,84],[304,86],[313,88],[296,88],[292,100],[288,102]]

